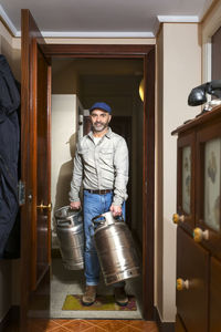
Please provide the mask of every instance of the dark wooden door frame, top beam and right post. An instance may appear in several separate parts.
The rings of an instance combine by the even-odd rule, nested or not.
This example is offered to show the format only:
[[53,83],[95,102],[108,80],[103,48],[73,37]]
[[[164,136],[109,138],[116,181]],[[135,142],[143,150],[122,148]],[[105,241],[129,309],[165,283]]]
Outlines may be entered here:
[[143,44],[44,44],[52,58],[143,59],[144,166],[143,166],[143,315],[154,320],[154,222],[155,222],[155,45]]

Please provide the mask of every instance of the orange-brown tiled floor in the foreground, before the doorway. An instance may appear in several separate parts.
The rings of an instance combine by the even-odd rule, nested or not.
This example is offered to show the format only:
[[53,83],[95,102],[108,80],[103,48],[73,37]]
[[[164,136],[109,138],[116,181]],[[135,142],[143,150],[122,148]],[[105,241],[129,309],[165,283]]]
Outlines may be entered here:
[[[28,332],[158,332],[155,322],[143,320],[43,320],[29,321]],[[9,326],[6,332],[19,332]]]

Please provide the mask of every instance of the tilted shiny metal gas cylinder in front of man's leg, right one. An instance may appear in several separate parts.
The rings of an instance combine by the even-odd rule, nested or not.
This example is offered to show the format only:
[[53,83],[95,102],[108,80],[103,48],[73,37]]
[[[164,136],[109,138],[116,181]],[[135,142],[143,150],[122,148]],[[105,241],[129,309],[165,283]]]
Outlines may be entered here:
[[106,212],[92,219],[94,241],[106,284],[139,276],[131,234],[123,219]]

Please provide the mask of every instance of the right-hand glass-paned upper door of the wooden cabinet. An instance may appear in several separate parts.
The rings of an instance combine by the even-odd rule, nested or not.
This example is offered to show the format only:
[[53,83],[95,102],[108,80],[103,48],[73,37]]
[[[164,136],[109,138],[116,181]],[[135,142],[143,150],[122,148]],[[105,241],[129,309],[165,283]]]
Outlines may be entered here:
[[201,243],[221,259],[221,134],[220,121],[197,134],[197,227],[208,231]]

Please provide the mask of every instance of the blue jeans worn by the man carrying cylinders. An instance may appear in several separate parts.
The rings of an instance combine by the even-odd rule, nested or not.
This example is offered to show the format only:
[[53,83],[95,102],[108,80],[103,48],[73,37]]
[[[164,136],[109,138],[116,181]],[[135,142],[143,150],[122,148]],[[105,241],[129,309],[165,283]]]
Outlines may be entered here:
[[[99,281],[99,261],[94,243],[94,229],[92,218],[109,211],[113,201],[113,193],[105,195],[90,194],[84,190],[84,234],[85,234],[85,278],[86,284],[96,286]],[[123,204],[123,217],[125,219],[125,203]],[[117,282],[114,287],[122,287],[123,282]]]

